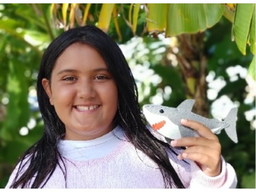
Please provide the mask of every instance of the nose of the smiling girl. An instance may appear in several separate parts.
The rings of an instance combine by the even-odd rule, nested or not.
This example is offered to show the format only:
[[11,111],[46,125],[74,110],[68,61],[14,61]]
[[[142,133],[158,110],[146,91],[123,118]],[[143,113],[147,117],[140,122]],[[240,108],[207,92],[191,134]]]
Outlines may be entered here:
[[96,96],[95,87],[90,80],[80,80],[77,83],[77,96],[81,99],[90,99]]

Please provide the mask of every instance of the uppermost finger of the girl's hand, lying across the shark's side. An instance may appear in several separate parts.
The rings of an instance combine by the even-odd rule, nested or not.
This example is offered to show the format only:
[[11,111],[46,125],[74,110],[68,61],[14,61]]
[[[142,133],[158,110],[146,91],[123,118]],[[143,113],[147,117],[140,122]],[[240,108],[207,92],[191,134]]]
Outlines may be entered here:
[[191,129],[194,129],[202,137],[206,137],[211,140],[218,140],[218,137],[213,132],[211,132],[211,130],[208,127],[204,126],[203,124],[200,124],[200,122],[181,119],[181,124],[190,127]]

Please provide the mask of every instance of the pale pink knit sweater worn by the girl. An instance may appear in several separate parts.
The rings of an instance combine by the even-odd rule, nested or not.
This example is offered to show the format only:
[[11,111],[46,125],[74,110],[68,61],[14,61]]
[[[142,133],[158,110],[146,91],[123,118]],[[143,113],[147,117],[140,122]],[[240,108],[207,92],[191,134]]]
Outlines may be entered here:
[[[63,155],[66,182],[57,166],[44,188],[164,188],[163,176],[149,157],[136,150],[129,141],[116,143],[112,151],[93,159],[73,160]],[[169,157],[185,188],[235,188],[237,185],[235,171],[223,157],[221,174],[215,177],[205,175],[193,161],[178,160],[173,152],[169,152]],[[17,168],[6,188],[16,173]]]

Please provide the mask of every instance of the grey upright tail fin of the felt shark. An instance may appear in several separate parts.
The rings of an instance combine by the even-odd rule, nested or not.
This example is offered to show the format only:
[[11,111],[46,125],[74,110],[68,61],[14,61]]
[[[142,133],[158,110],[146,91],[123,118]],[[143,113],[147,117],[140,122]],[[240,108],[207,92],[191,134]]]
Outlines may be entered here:
[[232,139],[232,141],[234,141],[235,143],[238,142],[237,129],[236,129],[237,111],[238,111],[237,108],[231,109],[229,111],[228,116],[224,120],[224,122],[229,125],[227,128],[225,128],[225,131],[226,131],[227,135],[230,137],[230,139]]

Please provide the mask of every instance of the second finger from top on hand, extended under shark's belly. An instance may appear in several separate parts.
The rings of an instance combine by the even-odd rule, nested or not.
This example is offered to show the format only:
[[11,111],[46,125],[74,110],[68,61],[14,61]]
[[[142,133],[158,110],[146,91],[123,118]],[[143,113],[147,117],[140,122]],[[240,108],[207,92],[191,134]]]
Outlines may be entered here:
[[205,146],[211,149],[221,150],[219,141],[207,139],[205,137],[184,137],[178,140],[171,141],[173,147],[191,147],[191,146]]

